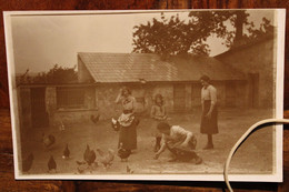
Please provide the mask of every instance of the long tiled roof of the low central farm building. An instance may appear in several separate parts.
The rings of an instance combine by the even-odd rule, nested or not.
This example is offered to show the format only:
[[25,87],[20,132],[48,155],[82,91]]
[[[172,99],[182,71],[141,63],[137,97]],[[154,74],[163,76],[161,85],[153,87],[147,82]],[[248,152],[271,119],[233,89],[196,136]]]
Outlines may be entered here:
[[162,61],[150,53],[78,53],[96,82],[198,81],[201,74],[212,80],[243,79],[215,58],[176,57]]

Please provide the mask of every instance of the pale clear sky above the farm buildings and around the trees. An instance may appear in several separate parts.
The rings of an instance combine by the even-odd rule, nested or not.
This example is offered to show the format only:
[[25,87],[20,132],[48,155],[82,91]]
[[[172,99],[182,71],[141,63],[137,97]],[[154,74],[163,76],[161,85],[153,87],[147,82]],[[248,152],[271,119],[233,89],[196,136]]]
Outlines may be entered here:
[[[249,21],[257,27],[263,17],[273,20],[273,10],[248,12]],[[179,14],[180,18],[188,16],[187,12]],[[30,72],[48,71],[56,63],[73,67],[78,52],[131,52],[133,26],[156,17],[160,18],[160,13],[13,17],[16,72],[22,73],[27,69]],[[210,55],[227,50],[215,37],[209,38],[208,43]]]

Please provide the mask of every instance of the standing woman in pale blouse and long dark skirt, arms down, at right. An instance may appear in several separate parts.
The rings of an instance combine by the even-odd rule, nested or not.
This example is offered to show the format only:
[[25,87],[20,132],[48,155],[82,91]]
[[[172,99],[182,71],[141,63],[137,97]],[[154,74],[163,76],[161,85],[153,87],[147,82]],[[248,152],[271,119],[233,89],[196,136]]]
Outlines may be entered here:
[[205,150],[213,149],[212,134],[218,131],[218,109],[217,109],[217,89],[210,84],[210,78],[202,75],[200,78],[201,89],[201,125],[200,132],[208,135]]

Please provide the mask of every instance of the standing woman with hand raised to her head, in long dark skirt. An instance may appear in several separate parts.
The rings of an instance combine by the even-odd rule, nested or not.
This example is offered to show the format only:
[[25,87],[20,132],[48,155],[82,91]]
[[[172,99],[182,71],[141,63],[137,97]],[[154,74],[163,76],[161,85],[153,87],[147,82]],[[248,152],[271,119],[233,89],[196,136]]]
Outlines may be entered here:
[[128,88],[120,89],[116,103],[121,103],[122,113],[118,119],[120,125],[118,146],[126,150],[137,149],[137,121],[134,118],[136,99]]

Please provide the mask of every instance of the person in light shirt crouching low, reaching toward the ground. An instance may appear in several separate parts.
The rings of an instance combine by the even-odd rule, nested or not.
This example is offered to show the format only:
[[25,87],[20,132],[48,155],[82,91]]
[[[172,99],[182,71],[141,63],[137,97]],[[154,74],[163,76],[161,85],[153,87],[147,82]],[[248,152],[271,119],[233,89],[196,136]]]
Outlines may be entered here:
[[179,125],[169,125],[167,122],[160,122],[157,129],[162,133],[163,142],[160,150],[155,154],[156,160],[168,149],[172,155],[172,159],[169,160],[170,162],[195,160],[196,164],[201,163],[201,158],[193,151],[197,145],[197,139],[192,132]]

